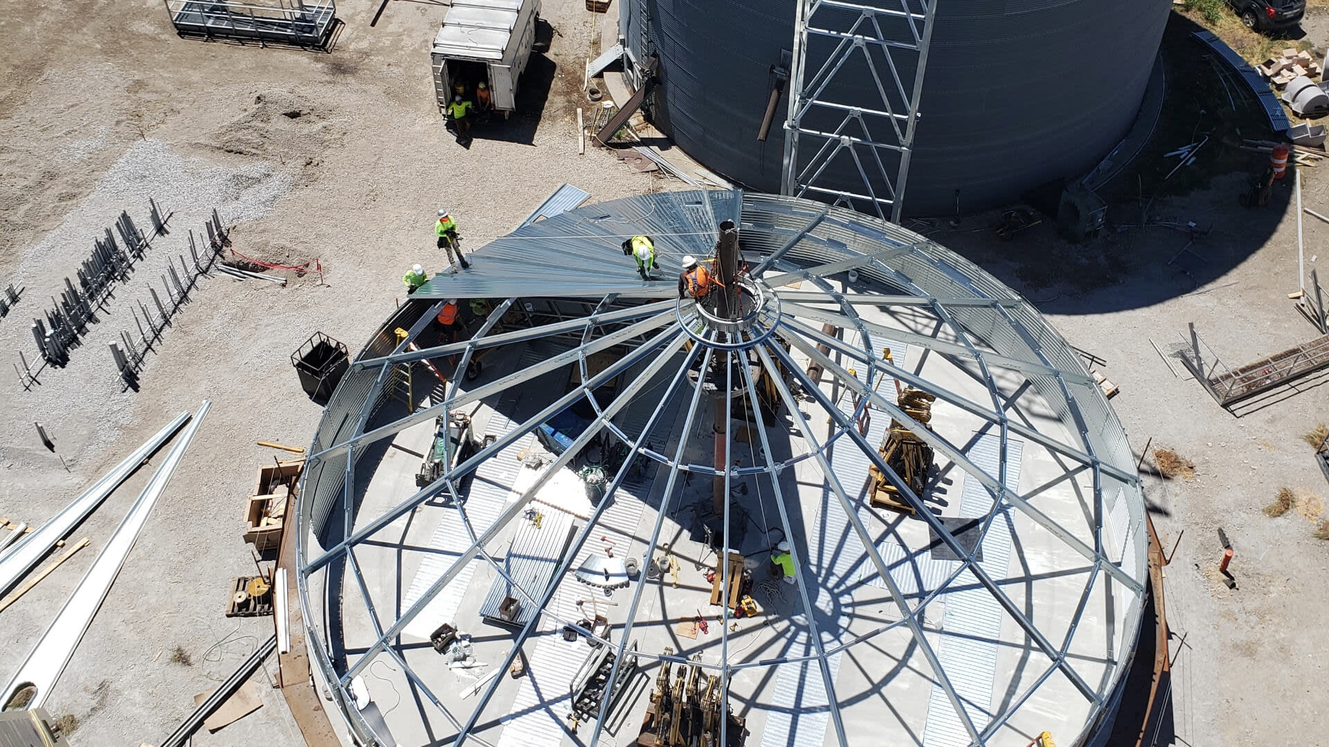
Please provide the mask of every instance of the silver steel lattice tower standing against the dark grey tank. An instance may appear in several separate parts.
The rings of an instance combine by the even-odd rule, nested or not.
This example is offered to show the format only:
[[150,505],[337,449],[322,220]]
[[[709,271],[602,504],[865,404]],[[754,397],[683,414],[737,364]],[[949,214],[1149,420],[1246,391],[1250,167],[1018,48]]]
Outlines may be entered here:
[[888,4],[799,0],[780,191],[898,223],[937,3]]

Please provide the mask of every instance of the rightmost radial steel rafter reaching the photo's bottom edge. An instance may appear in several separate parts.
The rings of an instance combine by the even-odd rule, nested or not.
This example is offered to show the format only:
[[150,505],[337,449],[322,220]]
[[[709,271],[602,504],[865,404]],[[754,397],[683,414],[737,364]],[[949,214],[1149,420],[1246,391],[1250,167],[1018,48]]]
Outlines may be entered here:
[[[771,360],[771,356],[764,347],[758,348],[758,355],[762,358],[763,366],[771,367],[768,368],[769,371],[779,370],[775,367],[775,362]],[[801,374],[801,371],[799,374]],[[772,380],[775,381],[775,388],[780,392],[780,397],[784,400],[785,407],[788,407],[789,412],[793,415],[793,421],[797,425],[799,432],[803,433],[803,436],[808,439],[815,447],[817,465],[821,469],[823,477],[827,480],[827,485],[831,488],[831,492],[835,493],[836,500],[840,502],[840,509],[844,510],[845,517],[853,526],[855,534],[859,536],[859,541],[863,544],[864,552],[868,553],[868,558],[872,561],[872,565],[876,566],[877,574],[881,577],[882,582],[885,582],[886,587],[890,590],[890,598],[896,603],[897,610],[900,611],[900,618],[905,622],[905,625],[909,626],[909,631],[912,633],[914,642],[918,645],[918,650],[922,651],[924,658],[928,659],[928,666],[932,667],[933,677],[937,678],[937,685],[941,686],[942,691],[946,694],[946,699],[950,700],[950,707],[956,710],[956,715],[965,726],[965,731],[969,732],[970,739],[973,739],[978,744],[982,744],[982,740],[978,736],[978,728],[974,726],[973,719],[969,716],[969,711],[966,711],[964,708],[964,704],[960,702],[960,694],[956,691],[956,687],[950,682],[950,678],[946,677],[946,667],[941,665],[941,659],[937,658],[937,653],[933,650],[932,643],[928,642],[928,637],[924,633],[922,626],[918,623],[918,618],[914,615],[914,610],[909,609],[909,603],[905,601],[904,594],[900,593],[900,585],[896,584],[894,577],[890,576],[890,569],[886,566],[885,560],[877,550],[877,545],[873,541],[872,536],[868,533],[868,528],[864,526],[863,520],[859,518],[857,508],[849,500],[849,496],[845,494],[844,485],[840,482],[840,476],[836,475],[835,469],[831,468],[831,463],[829,460],[827,460],[825,452],[817,444],[817,437],[812,431],[812,425],[807,421],[805,417],[803,417],[803,412],[799,409],[799,401],[793,399],[792,392],[789,392],[789,387],[784,383],[784,380],[780,376],[773,376]],[[807,377],[803,379],[803,384],[804,385],[811,384],[812,387],[816,387],[816,383],[812,383],[811,379]],[[820,387],[816,388],[817,391],[820,391]],[[755,397],[755,392],[752,393],[752,396]],[[827,404],[823,403],[823,407],[827,408]],[[836,413],[840,413],[840,409],[835,407],[835,403],[831,403],[831,405],[827,409],[828,412],[831,409],[835,409]],[[758,432],[762,435],[763,448],[769,451],[769,445],[766,436],[766,428],[764,423],[762,421],[760,412],[758,412]],[[969,553],[962,552],[960,553],[958,557],[968,558],[964,562],[965,566],[974,565],[973,556],[970,556]],[[957,570],[957,573],[960,573],[960,570]],[[819,654],[823,658],[825,657],[825,654],[820,650]],[[832,698],[835,696],[833,691],[835,691],[833,687],[827,689],[827,693],[832,693],[831,695]]]

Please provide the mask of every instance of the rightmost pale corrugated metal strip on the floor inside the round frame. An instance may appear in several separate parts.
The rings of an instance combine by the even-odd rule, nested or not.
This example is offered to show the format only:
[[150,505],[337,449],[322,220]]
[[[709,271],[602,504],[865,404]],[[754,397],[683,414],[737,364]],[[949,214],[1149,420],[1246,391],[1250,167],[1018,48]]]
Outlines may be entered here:
[[[1023,441],[1010,439],[1006,443],[1006,486],[1019,486],[1021,453]],[[965,451],[974,465],[995,477],[1001,465],[1001,437],[979,436]],[[983,517],[993,508],[991,494],[970,475],[965,475],[965,488],[960,497],[960,516]],[[995,581],[1007,576],[1010,561],[1011,520],[1010,506],[1003,506],[993,520],[987,536],[983,537],[983,561],[978,564]],[[957,561],[937,561],[957,562]],[[945,595],[946,611],[942,617],[942,637],[937,646],[937,658],[950,679],[956,694],[964,703],[965,712],[982,731],[990,720],[993,678],[997,674],[997,641],[1001,637],[1002,609],[997,599],[979,586],[970,570],[956,577],[960,591]],[[924,747],[966,747],[969,732],[956,714],[950,699],[940,685],[933,685],[928,702],[928,723],[922,732]]]

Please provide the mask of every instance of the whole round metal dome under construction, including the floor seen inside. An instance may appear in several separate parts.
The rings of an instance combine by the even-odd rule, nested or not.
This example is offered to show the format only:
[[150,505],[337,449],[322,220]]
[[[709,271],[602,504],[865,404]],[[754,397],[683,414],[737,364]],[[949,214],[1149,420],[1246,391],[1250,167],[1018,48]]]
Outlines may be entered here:
[[[724,315],[676,274],[727,221]],[[351,364],[300,486],[308,647],[361,740],[1098,743],[1143,496],[1025,299],[898,226],[738,191],[593,205],[470,259]]]

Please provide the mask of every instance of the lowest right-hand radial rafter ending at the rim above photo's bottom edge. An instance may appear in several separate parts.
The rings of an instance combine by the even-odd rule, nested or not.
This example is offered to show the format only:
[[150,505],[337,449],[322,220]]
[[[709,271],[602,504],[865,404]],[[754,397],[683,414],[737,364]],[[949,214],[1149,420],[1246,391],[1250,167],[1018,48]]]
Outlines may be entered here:
[[[876,451],[876,448],[868,444],[867,439],[864,439],[859,433],[857,428],[855,428],[853,421],[847,419],[844,413],[840,412],[837,407],[835,407],[835,403],[832,403],[829,397],[827,397],[825,392],[823,392],[819,387],[816,387],[815,381],[807,377],[807,375],[797,367],[796,362],[789,356],[789,354],[787,354],[779,346],[773,346],[772,352],[777,358],[780,358],[780,360],[788,367],[789,372],[793,376],[796,376],[800,380],[800,383],[803,383],[804,388],[809,385],[812,387],[811,389],[808,389],[808,392],[813,396],[813,399],[816,399],[821,404],[821,407],[827,411],[828,415],[831,415],[833,420],[840,423],[840,425],[845,429],[844,433],[855,444],[859,445],[859,449],[863,451],[863,453],[881,472],[881,475],[885,476],[888,480],[890,480],[892,485],[894,485],[896,489],[900,490],[900,496],[914,509],[914,516],[922,518],[924,522],[926,522],[928,526],[937,534],[937,537],[948,548],[950,548],[950,550],[956,553],[958,557],[971,557],[968,552],[965,552],[965,549],[960,545],[960,542],[950,533],[950,530],[948,530],[946,526],[941,524],[941,520],[938,520],[936,514],[933,514],[928,509],[928,505],[922,502],[922,498],[918,497],[918,494],[914,493],[913,489],[904,480],[900,479],[900,476],[890,468],[890,465],[888,465],[886,461],[881,459],[881,455]],[[841,372],[836,375],[843,376],[845,374]],[[925,428],[920,429],[926,431]],[[917,435],[922,437],[921,433]],[[981,473],[982,471],[978,472]],[[856,520],[857,517],[851,514],[851,521]],[[1062,532],[1065,532],[1065,529]],[[1080,545],[1083,546],[1083,544]],[[874,548],[869,550],[869,554],[873,550]],[[1094,552],[1090,550],[1090,553],[1092,554]],[[1096,554],[1094,554],[1094,557],[1096,557]],[[1015,605],[1015,602],[1010,599],[1006,591],[1003,591],[1001,586],[998,586],[997,582],[993,581],[991,576],[989,576],[987,572],[983,570],[983,568],[977,562],[970,562],[969,570],[970,573],[974,574],[978,582],[987,589],[987,593],[997,599],[997,602],[1002,606],[1002,609],[1006,610],[1006,614],[1009,614],[1011,619],[1014,619],[1015,623],[1019,625],[1025,630],[1025,633],[1038,645],[1038,647],[1043,650],[1043,654],[1046,654],[1047,658],[1051,661],[1061,662],[1062,669],[1066,673],[1066,677],[1075,683],[1076,689],[1079,689],[1079,691],[1090,700],[1100,703],[1102,698],[1098,695],[1098,693],[1092,687],[1090,687],[1087,682],[1084,682],[1084,679],[1079,675],[1079,673],[1076,673],[1075,669],[1070,665],[1070,662],[1066,661],[1066,657],[1061,655],[1057,651],[1057,649],[1051,645],[1051,642],[1047,641],[1047,637],[1045,637],[1042,631],[1039,631],[1038,627],[1034,626],[1034,623],[1027,617],[1025,617],[1025,613]]]

